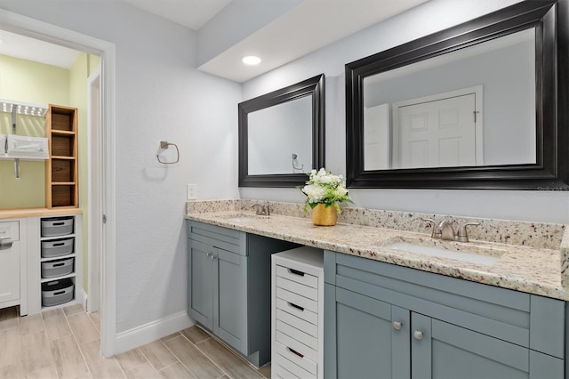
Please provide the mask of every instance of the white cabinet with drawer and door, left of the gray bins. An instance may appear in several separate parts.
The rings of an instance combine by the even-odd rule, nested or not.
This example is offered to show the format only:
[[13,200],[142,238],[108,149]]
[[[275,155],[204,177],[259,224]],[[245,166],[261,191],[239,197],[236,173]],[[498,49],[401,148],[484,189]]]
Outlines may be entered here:
[[20,314],[28,314],[27,260],[25,233],[20,233],[20,220],[0,222],[0,308],[20,305]]

